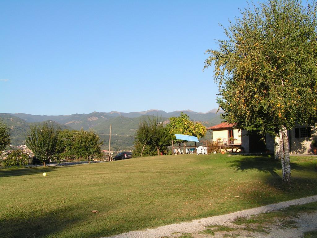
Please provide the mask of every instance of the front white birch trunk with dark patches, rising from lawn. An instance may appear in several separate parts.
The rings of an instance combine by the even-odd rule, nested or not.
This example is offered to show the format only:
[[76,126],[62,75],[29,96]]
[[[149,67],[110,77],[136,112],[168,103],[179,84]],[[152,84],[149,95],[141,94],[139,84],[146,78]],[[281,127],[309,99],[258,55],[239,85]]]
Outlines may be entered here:
[[282,173],[283,173],[283,182],[290,184],[291,183],[291,163],[289,160],[289,142],[287,129],[285,126],[282,126],[282,144],[283,144],[283,155],[281,158],[282,163]]

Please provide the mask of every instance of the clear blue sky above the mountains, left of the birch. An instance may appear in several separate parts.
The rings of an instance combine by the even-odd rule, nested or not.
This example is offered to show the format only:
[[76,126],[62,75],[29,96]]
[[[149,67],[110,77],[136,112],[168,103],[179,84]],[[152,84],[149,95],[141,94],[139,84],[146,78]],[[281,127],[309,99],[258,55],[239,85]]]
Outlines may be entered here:
[[246,5],[0,0],[0,112],[217,108],[204,51]]

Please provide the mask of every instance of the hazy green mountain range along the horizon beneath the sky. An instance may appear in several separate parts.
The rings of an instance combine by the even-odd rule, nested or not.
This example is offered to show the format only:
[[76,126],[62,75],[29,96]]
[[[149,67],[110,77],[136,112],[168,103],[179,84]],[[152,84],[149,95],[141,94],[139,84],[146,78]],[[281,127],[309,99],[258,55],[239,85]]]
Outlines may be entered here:
[[[210,110],[206,113],[195,112],[191,110],[165,112],[162,110],[147,110],[142,112],[92,112],[89,114],[72,114],[72,115],[31,115],[25,113],[0,113],[0,119],[9,125],[11,129],[12,144],[22,144],[25,135],[28,133],[30,125],[41,122],[50,123],[55,127],[63,129],[83,128],[94,129],[100,134],[100,139],[104,145],[109,143],[109,128],[112,125],[113,135],[111,137],[111,147],[114,150],[132,149],[135,131],[138,128],[139,121],[142,117],[159,116],[162,121],[168,122],[168,118],[179,116],[180,113],[186,113],[192,121],[201,122],[205,126],[212,126],[220,123],[222,119],[217,109]],[[107,134],[107,135],[104,135]],[[105,147],[106,148],[106,147]]]

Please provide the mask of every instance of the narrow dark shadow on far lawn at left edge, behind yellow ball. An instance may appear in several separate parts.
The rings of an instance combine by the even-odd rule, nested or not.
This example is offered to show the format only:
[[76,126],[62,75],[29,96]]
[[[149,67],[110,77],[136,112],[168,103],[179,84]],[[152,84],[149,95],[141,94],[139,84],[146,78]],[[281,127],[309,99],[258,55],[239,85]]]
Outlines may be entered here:
[[22,175],[33,175],[33,174],[42,174],[44,172],[48,173],[51,171],[59,170],[59,168],[54,167],[40,167],[40,168],[17,168],[17,169],[0,169],[0,178],[1,177],[10,177],[10,176],[22,176]]

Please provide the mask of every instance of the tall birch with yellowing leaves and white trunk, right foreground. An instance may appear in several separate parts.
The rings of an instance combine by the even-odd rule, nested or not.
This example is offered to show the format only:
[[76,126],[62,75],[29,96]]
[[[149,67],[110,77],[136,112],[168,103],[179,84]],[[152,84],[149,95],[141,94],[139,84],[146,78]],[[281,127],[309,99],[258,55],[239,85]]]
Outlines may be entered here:
[[271,0],[225,29],[227,40],[207,50],[215,67],[223,118],[261,134],[281,136],[283,182],[290,183],[287,130],[317,118],[316,2]]

